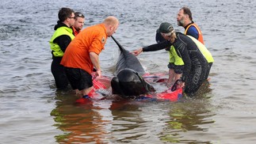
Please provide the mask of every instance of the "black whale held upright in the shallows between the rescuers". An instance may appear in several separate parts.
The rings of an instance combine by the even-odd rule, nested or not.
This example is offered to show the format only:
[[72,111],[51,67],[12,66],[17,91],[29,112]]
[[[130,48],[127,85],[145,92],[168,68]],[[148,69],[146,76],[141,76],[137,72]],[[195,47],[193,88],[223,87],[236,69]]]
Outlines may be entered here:
[[146,72],[139,63],[139,59],[125,50],[113,36],[111,37],[120,49],[120,55],[114,73],[116,76],[111,80],[112,93],[129,98],[155,92],[153,86],[147,83],[142,77]]

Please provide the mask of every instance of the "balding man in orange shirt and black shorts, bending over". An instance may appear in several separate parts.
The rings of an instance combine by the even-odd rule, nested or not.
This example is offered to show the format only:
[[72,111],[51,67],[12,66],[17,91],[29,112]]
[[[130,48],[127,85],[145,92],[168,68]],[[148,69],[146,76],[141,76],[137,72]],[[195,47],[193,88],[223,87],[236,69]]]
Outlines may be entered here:
[[94,88],[92,71],[96,69],[95,76],[101,77],[99,54],[104,49],[107,37],[117,31],[119,21],[109,16],[98,25],[82,30],[71,44],[68,45],[60,64],[65,66],[67,78],[72,89],[78,89],[84,98]]

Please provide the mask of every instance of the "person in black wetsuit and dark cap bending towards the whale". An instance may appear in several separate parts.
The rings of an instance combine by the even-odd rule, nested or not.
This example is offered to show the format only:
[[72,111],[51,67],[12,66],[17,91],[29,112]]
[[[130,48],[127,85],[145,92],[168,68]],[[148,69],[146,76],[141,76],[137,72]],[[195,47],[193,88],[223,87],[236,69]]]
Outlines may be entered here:
[[164,41],[159,44],[139,48],[136,51],[132,51],[132,53],[139,55],[142,51],[159,51],[166,47],[174,47],[178,57],[184,63],[180,86],[185,86],[184,92],[192,96],[204,81],[205,74],[207,73],[207,60],[193,40],[181,32],[175,32],[170,23],[162,23],[159,27],[159,32],[165,39]]

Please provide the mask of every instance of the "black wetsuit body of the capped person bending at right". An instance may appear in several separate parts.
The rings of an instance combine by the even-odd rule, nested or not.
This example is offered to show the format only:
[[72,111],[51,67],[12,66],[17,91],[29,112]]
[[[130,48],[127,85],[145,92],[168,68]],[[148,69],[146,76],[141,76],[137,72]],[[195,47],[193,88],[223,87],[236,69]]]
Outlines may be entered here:
[[173,46],[184,62],[181,80],[185,81],[185,93],[195,93],[204,82],[208,62],[197,45],[188,36],[176,32],[177,39]]

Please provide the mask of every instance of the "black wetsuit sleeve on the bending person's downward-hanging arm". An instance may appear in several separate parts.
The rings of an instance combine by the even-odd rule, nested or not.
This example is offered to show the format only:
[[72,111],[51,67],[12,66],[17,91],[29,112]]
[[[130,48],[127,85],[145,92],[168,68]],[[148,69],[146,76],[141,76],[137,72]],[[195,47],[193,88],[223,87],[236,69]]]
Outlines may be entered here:
[[175,47],[175,50],[177,51],[178,55],[181,56],[181,59],[184,62],[184,70],[182,73],[181,81],[185,81],[189,77],[189,73],[191,70],[191,59],[189,57],[189,51],[185,44],[178,44],[178,46]]

